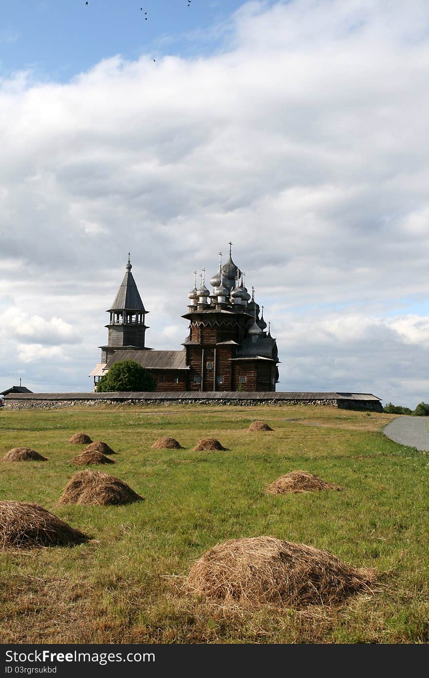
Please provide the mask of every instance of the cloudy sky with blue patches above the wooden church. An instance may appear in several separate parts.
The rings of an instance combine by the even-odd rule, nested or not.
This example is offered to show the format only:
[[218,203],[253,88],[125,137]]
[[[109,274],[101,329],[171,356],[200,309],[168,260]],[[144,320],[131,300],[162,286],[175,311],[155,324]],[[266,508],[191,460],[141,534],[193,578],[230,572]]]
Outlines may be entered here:
[[182,348],[232,241],[277,390],[428,402],[428,3],[188,4],[2,9],[0,390],[91,391],[128,252]]

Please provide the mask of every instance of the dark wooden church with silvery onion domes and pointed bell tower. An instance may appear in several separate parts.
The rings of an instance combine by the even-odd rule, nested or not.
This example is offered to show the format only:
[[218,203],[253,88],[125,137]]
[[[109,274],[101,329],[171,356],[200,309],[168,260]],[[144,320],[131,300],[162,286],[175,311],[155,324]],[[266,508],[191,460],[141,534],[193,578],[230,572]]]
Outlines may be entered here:
[[131,359],[155,378],[157,391],[275,391],[279,380],[276,340],[266,332],[264,307],[256,303],[254,290],[247,292],[245,277],[231,258],[211,277],[210,292],[204,269],[197,289],[188,294],[189,334],[182,351],[155,351],[145,346],[145,316],[148,313],[131,273],[125,277],[107,313],[108,340],[100,346],[101,361],[89,376],[94,389],[116,362]]

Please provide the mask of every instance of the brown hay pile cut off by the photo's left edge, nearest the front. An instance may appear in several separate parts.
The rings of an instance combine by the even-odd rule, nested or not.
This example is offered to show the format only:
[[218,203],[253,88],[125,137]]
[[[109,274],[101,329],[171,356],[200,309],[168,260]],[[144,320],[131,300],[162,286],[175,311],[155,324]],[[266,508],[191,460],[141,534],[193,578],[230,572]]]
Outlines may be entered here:
[[73,546],[88,539],[39,504],[0,502],[0,549]]

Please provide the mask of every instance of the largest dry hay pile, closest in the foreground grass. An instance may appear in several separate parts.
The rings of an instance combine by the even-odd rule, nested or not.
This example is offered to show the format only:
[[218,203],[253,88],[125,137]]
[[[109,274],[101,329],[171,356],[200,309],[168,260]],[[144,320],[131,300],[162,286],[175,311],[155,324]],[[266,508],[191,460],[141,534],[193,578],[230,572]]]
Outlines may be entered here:
[[373,572],[355,569],[306,544],[274,537],[231,539],[192,566],[186,588],[224,603],[248,607],[305,607],[339,603],[370,591]]

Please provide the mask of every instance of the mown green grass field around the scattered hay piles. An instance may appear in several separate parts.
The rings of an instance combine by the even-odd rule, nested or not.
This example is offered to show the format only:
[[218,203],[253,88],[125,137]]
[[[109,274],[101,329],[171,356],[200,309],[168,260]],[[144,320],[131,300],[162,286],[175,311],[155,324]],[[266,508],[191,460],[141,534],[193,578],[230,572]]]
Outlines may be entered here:
[[[2,643],[427,643],[429,455],[387,439],[394,416],[331,407],[73,407],[0,412],[0,457],[33,447],[47,462],[0,464],[0,499],[37,502],[93,541],[0,553]],[[249,433],[254,419],[274,431]],[[127,506],[56,506],[79,470],[83,431],[119,454],[116,475],[144,496]],[[151,450],[171,435],[184,450]],[[202,437],[227,452],[192,452]],[[308,471],[344,492],[266,496]],[[218,542],[269,535],[356,567],[375,591],[340,607],[249,611],[185,595],[190,565]]]

